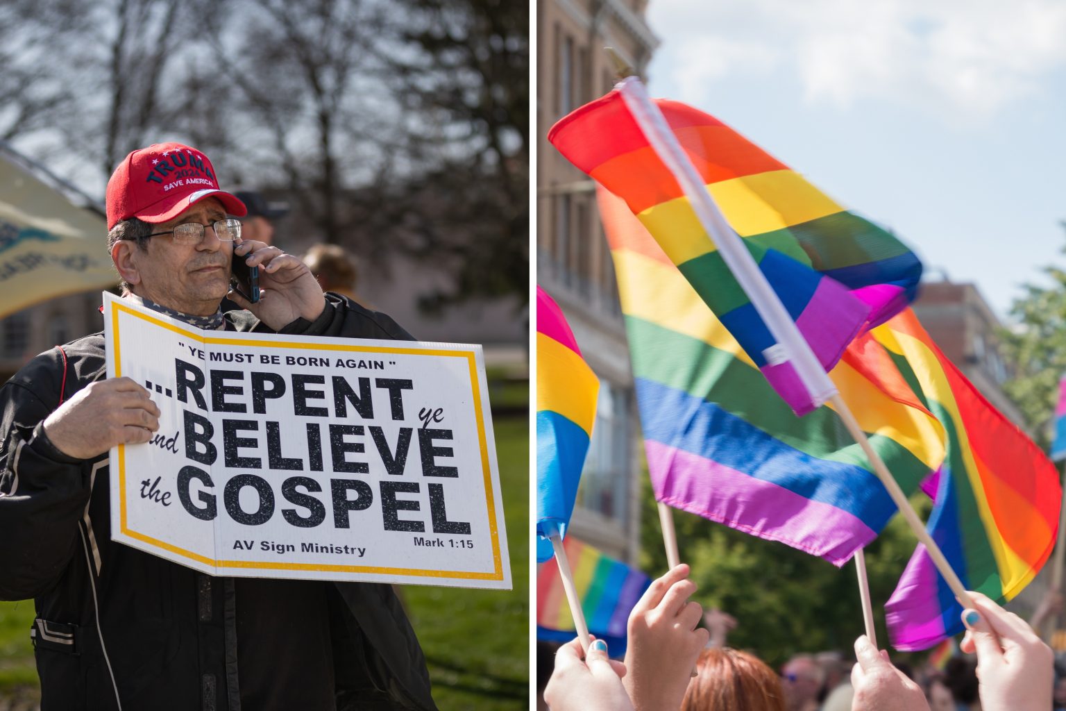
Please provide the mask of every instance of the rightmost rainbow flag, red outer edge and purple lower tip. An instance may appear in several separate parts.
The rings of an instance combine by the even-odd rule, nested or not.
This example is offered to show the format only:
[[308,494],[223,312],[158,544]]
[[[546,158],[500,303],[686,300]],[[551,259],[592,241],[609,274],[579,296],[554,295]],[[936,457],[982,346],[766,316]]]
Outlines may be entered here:
[[[908,309],[873,330],[948,434],[930,534],[967,589],[1003,602],[1055,544],[1062,486],[1048,457],[940,352]],[[892,646],[927,649],[963,631],[962,605],[919,546],[886,604]]]

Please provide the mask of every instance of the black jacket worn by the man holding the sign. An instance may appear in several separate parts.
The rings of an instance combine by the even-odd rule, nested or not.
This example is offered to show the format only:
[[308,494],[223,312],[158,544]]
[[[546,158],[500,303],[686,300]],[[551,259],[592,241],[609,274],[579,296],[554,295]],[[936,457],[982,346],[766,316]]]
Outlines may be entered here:
[[[333,294],[327,302],[314,323],[298,319],[280,333],[411,338],[384,314]],[[269,330],[247,311],[226,321],[230,330]],[[233,711],[233,579],[112,543],[108,455],[74,459],[44,434],[61,398],[103,377],[103,336],[95,334],[41,354],[0,388],[0,598],[34,598],[42,709],[120,701],[125,710]],[[337,709],[434,709],[422,650],[392,587],[321,584]],[[281,645],[277,674],[285,652]]]

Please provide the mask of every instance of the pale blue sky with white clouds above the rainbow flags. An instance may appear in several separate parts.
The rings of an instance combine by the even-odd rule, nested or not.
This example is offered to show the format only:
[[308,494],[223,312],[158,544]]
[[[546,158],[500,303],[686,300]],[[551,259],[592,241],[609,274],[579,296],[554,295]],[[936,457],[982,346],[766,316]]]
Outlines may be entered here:
[[1066,2],[650,0],[653,96],[711,113],[1001,317],[1066,257]]

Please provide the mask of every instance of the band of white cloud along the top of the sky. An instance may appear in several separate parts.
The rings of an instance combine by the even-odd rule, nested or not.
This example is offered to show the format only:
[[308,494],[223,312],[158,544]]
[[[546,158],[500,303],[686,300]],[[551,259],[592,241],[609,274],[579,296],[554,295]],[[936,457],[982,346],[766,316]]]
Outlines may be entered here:
[[648,13],[677,84],[785,65],[812,103],[889,95],[988,114],[1066,66],[1061,0],[651,0]]

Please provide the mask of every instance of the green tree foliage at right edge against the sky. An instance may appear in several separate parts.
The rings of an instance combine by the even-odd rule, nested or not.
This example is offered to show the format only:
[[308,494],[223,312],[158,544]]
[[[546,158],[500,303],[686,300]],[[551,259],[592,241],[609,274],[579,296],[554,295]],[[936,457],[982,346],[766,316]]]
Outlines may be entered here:
[[[1066,228],[1066,222],[1062,226]],[[1066,254],[1066,247],[1062,252]],[[1004,355],[1015,363],[1015,376],[1003,388],[1021,408],[1037,443],[1046,448],[1059,378],[1066,374],[1066,271],[1052,265],[1044,274],[1049,284],[1024,285],[1025,294],[1011,306],[1017,326],[1001,336]]]

